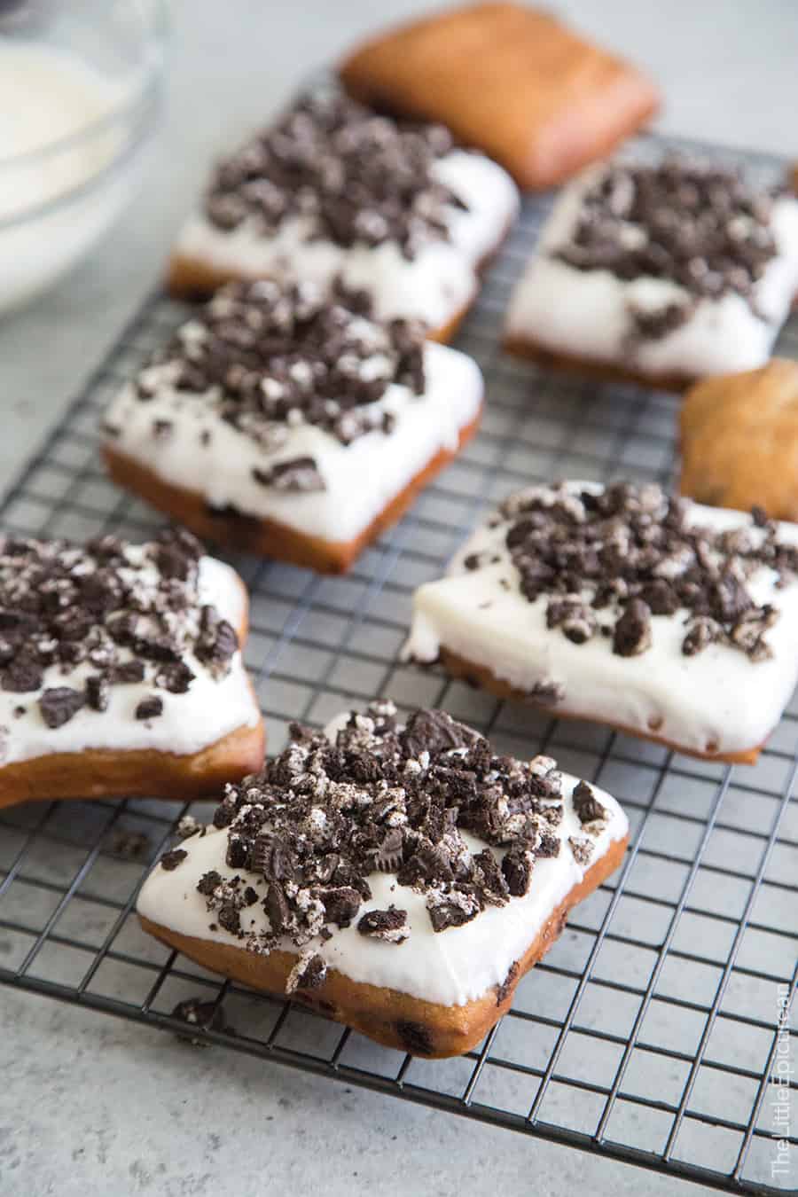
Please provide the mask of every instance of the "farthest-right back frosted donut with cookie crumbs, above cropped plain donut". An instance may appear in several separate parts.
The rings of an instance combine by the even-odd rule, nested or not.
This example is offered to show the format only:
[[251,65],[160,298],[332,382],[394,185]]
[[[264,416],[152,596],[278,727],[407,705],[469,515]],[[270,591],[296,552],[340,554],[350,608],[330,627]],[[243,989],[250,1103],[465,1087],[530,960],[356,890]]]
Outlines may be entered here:
[[765,365],[798,292],[798,200],[708,158],[592,168],[558,199],[505,346],[682,390]]

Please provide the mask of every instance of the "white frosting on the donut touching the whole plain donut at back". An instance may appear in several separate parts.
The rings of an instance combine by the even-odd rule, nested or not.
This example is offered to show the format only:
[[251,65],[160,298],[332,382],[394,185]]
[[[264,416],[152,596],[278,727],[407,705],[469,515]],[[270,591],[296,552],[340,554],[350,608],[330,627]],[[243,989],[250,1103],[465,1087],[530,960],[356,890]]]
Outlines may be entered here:
[[236,278],[300,279],[327,287],[340,274],[347,286],[372,292],[378,318],[414,317],[440,328],[474,298],[476,269],[514,218],[518,190],[497,163],[463,150],[438,159],[433,172],[468,211],[450,205],[451,239],[430,242],[412,261],[394,242],[347,248],[309,239],[303,217],[282,220],[274,233],[264,233],[252,218],[227,232],[201,213],[182,230],[177,254]]

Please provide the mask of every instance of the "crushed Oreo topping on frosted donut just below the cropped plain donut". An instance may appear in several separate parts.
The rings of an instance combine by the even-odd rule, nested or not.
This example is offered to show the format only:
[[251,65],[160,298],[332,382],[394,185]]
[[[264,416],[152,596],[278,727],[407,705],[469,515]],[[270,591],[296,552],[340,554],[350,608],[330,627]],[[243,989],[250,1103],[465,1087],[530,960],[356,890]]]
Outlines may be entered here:
[[779,539],[775,523],[702,527],[687,500],[653,484],[535,486],[505,500],[498,518],[522,594],[546,598],[547,626],[574,644],[601,631],[625,657],[648,651],[656,618],[684,610],[686,656],[721,643],[765,661],[779,610],[756,603],[749,581],[762,569],[776,587],[798,577],[798,548]]

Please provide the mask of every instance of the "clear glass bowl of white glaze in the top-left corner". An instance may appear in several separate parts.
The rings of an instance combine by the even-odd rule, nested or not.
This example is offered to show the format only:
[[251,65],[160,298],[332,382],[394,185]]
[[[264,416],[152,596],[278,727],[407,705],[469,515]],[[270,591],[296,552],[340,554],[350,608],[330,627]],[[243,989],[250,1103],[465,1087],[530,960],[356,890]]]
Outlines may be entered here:
[[164,45],[162,0],[0,0],[0,312],[68,271],[135,193]]

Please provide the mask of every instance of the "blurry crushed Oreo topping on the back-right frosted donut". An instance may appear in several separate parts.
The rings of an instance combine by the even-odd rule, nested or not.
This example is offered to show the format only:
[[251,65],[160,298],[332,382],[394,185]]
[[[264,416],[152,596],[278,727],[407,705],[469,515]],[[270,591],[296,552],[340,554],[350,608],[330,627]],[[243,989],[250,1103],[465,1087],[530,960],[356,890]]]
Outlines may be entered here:
[[727,294],[762,318],[756,285],[776,255],[775,194],[717,162],[675,154],[656,165],[616,162],[581,196],[578,221],[552,256],[578,271],[680,287],[657,306],[629,305],[636,341],[666,336],[696,303]]

